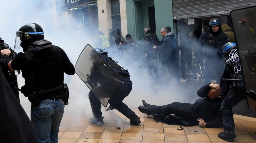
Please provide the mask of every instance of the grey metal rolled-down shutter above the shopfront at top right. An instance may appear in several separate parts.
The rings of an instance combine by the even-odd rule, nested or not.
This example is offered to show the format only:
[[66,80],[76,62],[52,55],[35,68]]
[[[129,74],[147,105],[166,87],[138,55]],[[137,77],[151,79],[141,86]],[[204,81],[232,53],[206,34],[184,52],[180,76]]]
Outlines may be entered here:
[[173,19],[228,15],[231,10],[256,5],[256,0],[172,0]]

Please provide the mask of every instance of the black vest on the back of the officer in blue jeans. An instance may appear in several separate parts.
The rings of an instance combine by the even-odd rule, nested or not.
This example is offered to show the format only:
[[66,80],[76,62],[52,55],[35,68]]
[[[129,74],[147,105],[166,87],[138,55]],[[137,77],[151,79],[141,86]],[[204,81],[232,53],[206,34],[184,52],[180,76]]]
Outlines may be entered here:
[[40,54],[24,52],[29,68],[22,70],[22,76],[25,78],[25,86],[30,92],[50,90],[63,84],[64,58],[57,46],[51,46],[50,52],[41,52]]

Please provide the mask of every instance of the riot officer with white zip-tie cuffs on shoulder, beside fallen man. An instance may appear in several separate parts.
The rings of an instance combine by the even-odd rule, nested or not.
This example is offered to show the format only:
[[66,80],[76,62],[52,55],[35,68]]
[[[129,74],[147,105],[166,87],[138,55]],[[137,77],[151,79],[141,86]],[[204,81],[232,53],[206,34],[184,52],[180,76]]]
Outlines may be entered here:
[[220,88],[223,91],[221,113],[224,131],[219,133],[218,137],[228,142],[234,142],[237,135],[234,132],[232,107],[245,98],[245,88],[236,43],[225,43],[222,47],[222,53],[226,61],[226,67],[220,81]]

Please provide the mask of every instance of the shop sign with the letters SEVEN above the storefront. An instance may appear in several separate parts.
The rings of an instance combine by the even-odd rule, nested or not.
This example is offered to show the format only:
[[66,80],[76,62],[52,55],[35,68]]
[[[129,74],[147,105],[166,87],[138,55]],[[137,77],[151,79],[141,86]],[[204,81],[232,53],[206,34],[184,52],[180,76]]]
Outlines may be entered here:
[[70,6],[80,5],[88,3],[93,0],[56,0],[56,7],[68,8]]

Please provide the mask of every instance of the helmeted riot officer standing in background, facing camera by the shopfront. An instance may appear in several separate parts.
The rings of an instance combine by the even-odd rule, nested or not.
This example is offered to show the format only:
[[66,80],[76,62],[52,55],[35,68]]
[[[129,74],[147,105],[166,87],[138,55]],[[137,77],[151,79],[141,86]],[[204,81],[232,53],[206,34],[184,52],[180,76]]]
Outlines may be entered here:
[[226,34],[221,30],[221,23],[217,18],[210,20],[209,29],[201,34],[197,45],[197,60],[205,62],[204,84],[211,83],[211,80],[216,72],[216,83],[219,84],[219,79],[224,70],[224,62],[222,59],[222,46],[229,42]]

